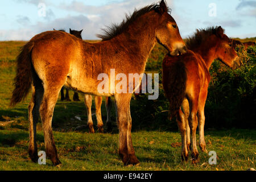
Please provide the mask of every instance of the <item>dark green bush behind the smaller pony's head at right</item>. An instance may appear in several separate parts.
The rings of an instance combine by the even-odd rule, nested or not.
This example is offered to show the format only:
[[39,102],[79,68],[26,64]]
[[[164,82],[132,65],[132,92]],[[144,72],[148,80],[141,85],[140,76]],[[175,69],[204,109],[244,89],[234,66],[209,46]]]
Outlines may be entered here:
[[256,47],[237,49],[242,61],[233,70],[215,61],[210,68],[212,81],[205,105],[207,127],[255,127]]

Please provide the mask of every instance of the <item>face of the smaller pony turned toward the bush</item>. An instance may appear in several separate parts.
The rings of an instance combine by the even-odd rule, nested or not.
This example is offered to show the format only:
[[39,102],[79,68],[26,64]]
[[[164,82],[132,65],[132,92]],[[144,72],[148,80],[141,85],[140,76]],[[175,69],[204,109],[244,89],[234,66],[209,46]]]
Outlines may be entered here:
[[215,36],[218,42],[216,47],[217,58],[232,69],[238,68],[240,66],[240,59],[234,49],[232,41],[224,34],[221,27],[218,27]]

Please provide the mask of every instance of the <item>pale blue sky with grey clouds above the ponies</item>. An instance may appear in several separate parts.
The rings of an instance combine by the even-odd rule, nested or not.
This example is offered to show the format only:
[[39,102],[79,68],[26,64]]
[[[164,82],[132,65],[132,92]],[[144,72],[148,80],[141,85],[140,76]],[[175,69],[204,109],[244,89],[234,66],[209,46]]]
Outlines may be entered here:
[[[40,32],[83,30],[82,38],[98,39],[101,28],[121,23],[158,0],[1,0],[0,41],[30,40]],[[256,0],[166,0],[183,38],[197,28],[222,26],[233,38],[256,37]]]

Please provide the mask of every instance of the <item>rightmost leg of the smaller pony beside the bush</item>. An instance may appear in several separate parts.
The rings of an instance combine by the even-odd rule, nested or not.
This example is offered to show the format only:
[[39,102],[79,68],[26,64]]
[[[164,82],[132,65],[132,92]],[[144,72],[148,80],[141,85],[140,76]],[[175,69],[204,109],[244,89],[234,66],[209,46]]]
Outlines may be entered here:
[[207,100],[207,92],[208,92],[208,87],[206,89],[202,90],[200,92],[199,96],[199,110],[197,112],[197,117],[199,120],[199,147],[201,151],[207,153],[207,148],[206,148],[206,143],[204,139],[204,123],[205,123],[205,115],[204,115],[204,106],[205,102]]

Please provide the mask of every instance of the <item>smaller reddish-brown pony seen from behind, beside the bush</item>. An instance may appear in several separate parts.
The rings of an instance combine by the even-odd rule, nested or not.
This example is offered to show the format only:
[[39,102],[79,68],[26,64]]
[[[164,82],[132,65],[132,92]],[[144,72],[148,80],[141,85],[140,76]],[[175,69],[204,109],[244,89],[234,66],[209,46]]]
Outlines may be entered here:
[[196,163],[199,154],[196,147],[197,118],[200,148],[207,152],[204,140],[204,106],[210,82],[210,65],[214,59],[221,60],[231,68],[236,68],[240,62],[232,42],[221,27],[197,30],[196,34],[188,39],[187,47],[189,51],[184,55],[167,55],[164,58],[163,88],[170,102],[170,118],[177,115],[182,140],[181,158],[188,159],[191,130],[192,159],[193,163]]

